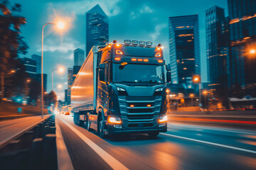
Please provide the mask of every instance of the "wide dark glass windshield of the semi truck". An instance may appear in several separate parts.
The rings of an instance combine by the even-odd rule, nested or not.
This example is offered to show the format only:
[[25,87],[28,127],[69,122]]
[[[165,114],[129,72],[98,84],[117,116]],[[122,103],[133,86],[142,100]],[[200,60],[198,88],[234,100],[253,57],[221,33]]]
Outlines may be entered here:
[[113,63],[113,82],[164,84],[163,71],[160,65]]

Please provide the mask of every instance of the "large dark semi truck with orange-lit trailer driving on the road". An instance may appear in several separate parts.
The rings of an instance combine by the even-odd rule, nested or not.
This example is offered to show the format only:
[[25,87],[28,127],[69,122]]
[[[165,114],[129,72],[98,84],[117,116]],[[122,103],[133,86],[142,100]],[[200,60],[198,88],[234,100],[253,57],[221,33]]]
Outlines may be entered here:
[[161,45],[116,40],[92,47],[71,86],[76,125],[107,135],[166,132],[170,67]]

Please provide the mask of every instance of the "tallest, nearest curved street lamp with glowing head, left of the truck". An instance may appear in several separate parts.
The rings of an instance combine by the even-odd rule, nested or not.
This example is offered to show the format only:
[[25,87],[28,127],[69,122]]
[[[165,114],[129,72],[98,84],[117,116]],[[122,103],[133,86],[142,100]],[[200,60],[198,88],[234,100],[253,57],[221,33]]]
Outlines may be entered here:
[[[45,28],[47,25],[55,25],[60,30],[65,27],[63,22],[56,23],[46,23],[43,25],[43,28]],[[42,28],[42,51],[41,51],[41,117],[43,118],[43,28]]]

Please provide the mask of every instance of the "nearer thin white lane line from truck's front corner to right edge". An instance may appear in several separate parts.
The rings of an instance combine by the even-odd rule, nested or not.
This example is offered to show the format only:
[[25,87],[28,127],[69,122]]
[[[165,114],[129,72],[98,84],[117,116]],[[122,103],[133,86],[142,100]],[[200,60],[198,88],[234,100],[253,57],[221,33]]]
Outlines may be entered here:
[[249,152],[249,153],[252,153],[252,154],[256,154],[256,151],[252,151],[252,150],[249,150],[249,149],[242,149],[242,148],[239,148],[239,147],[231,147],[231,146],[228,146],[228,145],[221,145],[221,144],[218,144],[218,143],[206,142],[206,141],[203,141],[203,140],[195,140],[195,139],[188,138],[188,137],[181,137],[181,136],[171,135],[171,134],[162,133],[162,132],[161,132],[161,135],[166,135],[166,136],[170,136],[170,137],[180,138],[180,139],[183,139],[183,140],[191,140],[191,141],[194,141],[194,142],[201,142],[201,143],[208,144],[208,145],[214,145],[214,146],[218,146],[218,147],[225,147],[225,148],[229,148],[229,149],[235,149],[235,150],[239,150],[239,151],[243,151],[243,152]]

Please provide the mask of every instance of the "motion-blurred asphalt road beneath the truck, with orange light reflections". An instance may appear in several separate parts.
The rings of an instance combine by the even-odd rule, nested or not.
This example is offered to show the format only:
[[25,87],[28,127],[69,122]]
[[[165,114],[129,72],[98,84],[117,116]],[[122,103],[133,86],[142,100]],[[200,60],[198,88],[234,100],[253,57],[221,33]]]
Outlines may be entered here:
[[155,139],[102,140],[74,125],[71,116],[57,115],[57,124],[74,169],[256,169],[253,130],[169,123],[168,131]]

